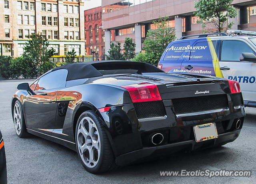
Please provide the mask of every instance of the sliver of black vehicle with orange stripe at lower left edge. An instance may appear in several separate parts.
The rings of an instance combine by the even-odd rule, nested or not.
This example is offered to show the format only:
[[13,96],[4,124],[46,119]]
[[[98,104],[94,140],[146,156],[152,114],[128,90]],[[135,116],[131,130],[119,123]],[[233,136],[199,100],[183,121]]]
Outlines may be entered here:
[[6,158],[4,151],[4,140],[0,130],[0,184],[7,184]]

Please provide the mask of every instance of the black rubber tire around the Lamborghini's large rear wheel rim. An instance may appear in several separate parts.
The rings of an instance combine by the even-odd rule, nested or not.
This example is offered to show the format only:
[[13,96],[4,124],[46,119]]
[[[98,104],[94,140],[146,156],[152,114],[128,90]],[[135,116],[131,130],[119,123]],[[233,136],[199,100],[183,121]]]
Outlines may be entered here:
[[[78,127],[80,127],[79,128],[79,130],[80,130],[81,129],[80,121],[83,118],[88,118],[88,117],[94,121],[94,123],[98,129],[97,135],[99,135],[99,137],[100,137],[100,139],[99,139],[100,140],[100,146],[99,146],[100,147],[100,150],[99,150],[100,156],[97,158],[97,161],[98,161],[97,164],[95,164],[95,166],[93,166],[93,167],[87,166],[88,163],[90,164],[90,161],[87,163],[87,165],[85,164],[85,162],[83,161],[83,159],[84,159],[83,154],[85,154],[85,153],[82,153],[82,155],[81,155],[81,152],[79,151],[79,148],[78,148],[78,136],[80,136],[80,135],[77,135]],[[80,132],[79,134],[82,134],[82,133]],[[106,128],[104,127],[100,118],[98,117],[98,115],[96,115],[95,112],[89,110],[89,111],[83,112],[80,115],[80,117],[78,118],[78,121],[76,123],[75,138],[76,138],[76,151],[78,153],[79,160],[88,172],[93,173],[93,174],[98,174],[98,173],[106,172],[106,171],[109,171],[112,169],[112,166],[115,162],[114,154],[113,154],[112,148],[111,148],[109,140],[108,140]],[[82,139],[80,139],[79,141],[81,141],[81,140]],[[96,152],[96,153],[98,153],[98,152]],[[83,157],[83,159],[82,159],[82,157]]]

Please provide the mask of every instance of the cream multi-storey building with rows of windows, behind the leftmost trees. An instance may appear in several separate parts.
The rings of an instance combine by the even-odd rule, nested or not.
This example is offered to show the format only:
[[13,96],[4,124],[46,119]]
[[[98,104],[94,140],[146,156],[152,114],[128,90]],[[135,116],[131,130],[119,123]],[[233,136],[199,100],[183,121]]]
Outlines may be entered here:
[[22,55],[32,33],[42,33],[55,55],[85,54],[84,0],[0,0],[0,12],[0,55]]

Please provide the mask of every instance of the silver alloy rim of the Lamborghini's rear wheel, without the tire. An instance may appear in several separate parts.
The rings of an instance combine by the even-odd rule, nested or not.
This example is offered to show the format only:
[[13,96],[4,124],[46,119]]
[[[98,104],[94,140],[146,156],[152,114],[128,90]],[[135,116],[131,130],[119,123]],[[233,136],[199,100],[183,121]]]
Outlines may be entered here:
[[79,122],[77,145],[84,164],[94,168],[100,158],[100,135],[95,122],[90,117],[84,117]]

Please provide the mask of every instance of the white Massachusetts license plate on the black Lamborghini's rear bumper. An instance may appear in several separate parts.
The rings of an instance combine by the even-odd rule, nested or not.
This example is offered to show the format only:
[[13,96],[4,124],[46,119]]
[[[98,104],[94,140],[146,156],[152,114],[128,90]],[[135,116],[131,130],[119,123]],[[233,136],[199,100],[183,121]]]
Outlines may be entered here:
[[196,125],[193,128],[194,128],[196,142],[218,138],[218,133],[217,133],[215,123]]

